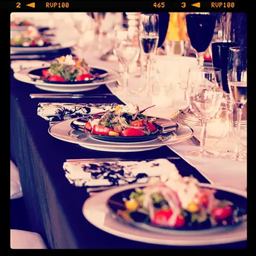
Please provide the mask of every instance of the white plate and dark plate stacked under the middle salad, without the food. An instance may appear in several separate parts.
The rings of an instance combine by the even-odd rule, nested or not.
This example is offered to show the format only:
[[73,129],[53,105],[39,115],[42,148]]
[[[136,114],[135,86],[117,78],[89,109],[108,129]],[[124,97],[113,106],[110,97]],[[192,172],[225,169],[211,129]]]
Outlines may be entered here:
[[[76,125],[77,122],[75,121],[79,121],[79,119],[81,119],[81,117],[55,123],[49,127],[48,132],[53,137],[60,139],[61,141],[79,144],[82,147],[92,150],[111,152],[137,152],[153,150],[164,145],[186,141],[193,136],[193,131],[190,127],[178,123],[178,127],[174,134],[168,136],[166,139],[164,139],[164,141],[160,139],[158,135],[155,135],[154,138],[149,138],[150,135],[148,135],[148,140],[145,140],[144,137],[146,136],[138,136],[136,139],[134,137],[105,136],[108,137],[107,139],[100,135],[91,135],[84,133],[79,129],[74,129],[74,123]],[[170,120],[167,121],[172,122]]]

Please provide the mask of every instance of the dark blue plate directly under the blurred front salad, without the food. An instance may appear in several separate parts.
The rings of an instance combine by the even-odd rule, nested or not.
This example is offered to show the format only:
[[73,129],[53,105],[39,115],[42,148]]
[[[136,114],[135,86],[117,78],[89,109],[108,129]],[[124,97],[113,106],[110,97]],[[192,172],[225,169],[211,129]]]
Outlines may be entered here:
[[[206,187],[205,185],[203,187]],[[143,186],[141,187],[143,188]],[[220,190],[220,189],[214,189],[216,190],[215,197],[216,199],[219,200],[228,200],[232,202],[234,205],[232,206],[233,210],[237,209],[238,214],[237,216],[241,218],[241,216],[246,216],[247,214],[247,199],[246,197],[237,195],[232,192]],[[156,226],[151,224],[149,218],[147,217],[146,214],[143,213],[138,213],[134,212],[131,214],[132,218],[131,220],[123,218],[123,216],[119,213],[119,210],[125,210],[125,201],[124,200],[129,200],[129,196],[131,192],[135,191],[135,189],[127,189],[125,191],[116,193],[115,195],[111,196],[108,200],[108,207],[112,212],[114,213],[115,216],[118,218],[121,218],[122,221],[125,221],[131,225],[137,226],[138,228],[142,229],[147,229],[150,231],[154,232],[168,232],[168,230],[180,230],[180,231],[195,231],[195,230],[207,230],[207,229],[215,229],[215,228],[220,228],[224,227],[224,225],[219,222],[217,226],[212,226],[210,224],[210,221],[203,222],[201,224],[193,224],[192,226],[184,225],[182,228],[170,228],[166,226]],[[225,227],[231,228],[231,227],[236,227],[242,223],[242,221],[235,221],[234,217],[231,216],[230,218],[226,219],[227,225]]]

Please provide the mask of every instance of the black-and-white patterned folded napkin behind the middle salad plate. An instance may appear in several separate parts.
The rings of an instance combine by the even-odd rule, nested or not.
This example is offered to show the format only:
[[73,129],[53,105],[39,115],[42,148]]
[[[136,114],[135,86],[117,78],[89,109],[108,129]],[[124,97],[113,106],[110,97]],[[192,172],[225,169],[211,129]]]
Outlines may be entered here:
[[76,103],[55,103],[42,102],[38,104],[38,115],[50,122],[68,120],[83,115],[96,114],[106,110],[112,110],[117,106],[111,104],[76,104]]

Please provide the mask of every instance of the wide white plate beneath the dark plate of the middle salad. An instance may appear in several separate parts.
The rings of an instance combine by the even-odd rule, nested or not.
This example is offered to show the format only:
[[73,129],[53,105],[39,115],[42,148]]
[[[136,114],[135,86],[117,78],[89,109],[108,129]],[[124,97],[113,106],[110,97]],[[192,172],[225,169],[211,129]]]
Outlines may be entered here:
[[[80,117],[79,117],[80,118]],[[179,128],[175,131],[177,137],[168,139],[168,141],[161,142],[159,139],[153,139],[152,141],[140,142],[140,143],[122,143],[122,142],[106,142],[93,139],[89,134],[82,133],[80,131],[73,130],[71,128],[71,122],[77,118],[69,119],[67,121],[61,121],[55,123],[49,127],[48,132],[53,137],[70,143],[79,144],[82,147],[92,148],[100,151],[119,151],[119,152],[134,152],[151,150],[154,148],[162,147],[164,145],[175,144],[186,141],[193,136],[193,131],[190,127],[181,125],[178,123]]]

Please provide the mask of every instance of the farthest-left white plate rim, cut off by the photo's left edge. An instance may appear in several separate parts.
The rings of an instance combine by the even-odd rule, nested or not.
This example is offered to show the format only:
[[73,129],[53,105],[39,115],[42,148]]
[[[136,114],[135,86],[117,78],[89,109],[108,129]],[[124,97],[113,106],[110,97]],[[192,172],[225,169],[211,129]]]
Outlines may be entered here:
[[71,48],[75,46],[75,42],[65,42],[58,46],[46,46],[46,47],[10,47],[11,54],[15,53],[39,53],[39,52],[51,52],[59,51],[65,48]]

